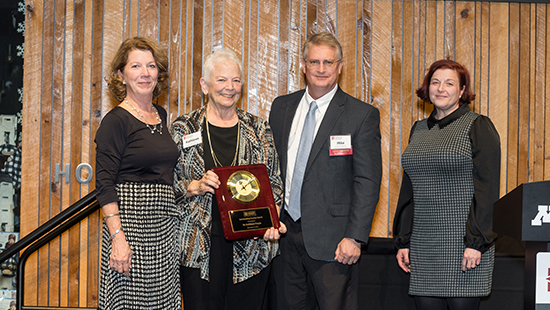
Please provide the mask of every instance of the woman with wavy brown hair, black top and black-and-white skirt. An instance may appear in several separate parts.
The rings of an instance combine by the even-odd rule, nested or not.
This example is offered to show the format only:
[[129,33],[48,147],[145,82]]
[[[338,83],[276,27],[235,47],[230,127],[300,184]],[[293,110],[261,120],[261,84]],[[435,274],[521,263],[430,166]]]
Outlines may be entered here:
[[103,211],[99,309],[181,310],[173,191],[178,149],[166,111],[152,104],[168,85],[168,58],[135,37],[106,77],[121,102],[96,133],[96,189]]

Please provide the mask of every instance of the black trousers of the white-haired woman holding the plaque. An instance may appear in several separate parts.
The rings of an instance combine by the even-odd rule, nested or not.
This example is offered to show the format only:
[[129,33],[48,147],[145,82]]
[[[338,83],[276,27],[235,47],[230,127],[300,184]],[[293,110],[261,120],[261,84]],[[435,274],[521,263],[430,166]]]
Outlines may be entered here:
[[270,268],[243,282],[233,284],[233,242],[212,235],[210,281],[200,278],[197,268],[181,267],[181,288],[185,309],[258,310],[262,306]]

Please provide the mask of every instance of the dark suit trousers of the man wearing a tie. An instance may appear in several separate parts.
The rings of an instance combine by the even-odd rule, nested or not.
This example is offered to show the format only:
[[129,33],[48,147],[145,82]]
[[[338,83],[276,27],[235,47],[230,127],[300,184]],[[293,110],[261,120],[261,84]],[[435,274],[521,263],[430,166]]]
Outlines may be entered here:
[[288,231],[280,240],[281,255],[273,261],[277,308],[358,309],[358,265],[312,259],[306,252],[301,221],[294,222],[286,212],[281,220]]

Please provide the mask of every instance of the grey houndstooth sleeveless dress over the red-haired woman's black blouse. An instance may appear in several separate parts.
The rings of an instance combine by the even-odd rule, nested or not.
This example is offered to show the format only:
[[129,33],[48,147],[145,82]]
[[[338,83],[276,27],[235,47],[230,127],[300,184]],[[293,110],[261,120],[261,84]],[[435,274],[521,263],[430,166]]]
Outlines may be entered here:
[[461,269],[474,195],[469,132],[477,117],[467,112],[442,129],[419,121],[403,152],[403,169],[414,193],[411,295],[479,297],[491,291],[494,245],[482,254],[477,268]]

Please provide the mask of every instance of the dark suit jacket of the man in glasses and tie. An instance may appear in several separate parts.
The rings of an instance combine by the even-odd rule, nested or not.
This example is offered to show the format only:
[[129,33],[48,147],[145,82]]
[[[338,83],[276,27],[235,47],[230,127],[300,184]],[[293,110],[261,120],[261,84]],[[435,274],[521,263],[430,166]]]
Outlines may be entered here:
[[[277,97],[269,123],[286,178],[288,138],[305,90]],[[301,193],[306,250],[316,260],[333,260],[344,237],[366,243],[382,178],[380,113],[338,88],[309,155]],[[352,155],[330,156],[330,136],[351,134]]]

